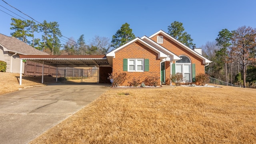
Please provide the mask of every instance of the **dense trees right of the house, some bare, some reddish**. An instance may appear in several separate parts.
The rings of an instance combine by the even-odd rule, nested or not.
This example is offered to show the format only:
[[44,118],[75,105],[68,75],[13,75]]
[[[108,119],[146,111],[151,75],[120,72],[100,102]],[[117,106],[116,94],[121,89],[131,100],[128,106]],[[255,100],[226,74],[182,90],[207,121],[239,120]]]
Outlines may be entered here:
[[211,77],[238,86],[256,85],[255,28],[223,29],[215,41],[202,46],[202,52],[212,61],[206,66],[206,73]]

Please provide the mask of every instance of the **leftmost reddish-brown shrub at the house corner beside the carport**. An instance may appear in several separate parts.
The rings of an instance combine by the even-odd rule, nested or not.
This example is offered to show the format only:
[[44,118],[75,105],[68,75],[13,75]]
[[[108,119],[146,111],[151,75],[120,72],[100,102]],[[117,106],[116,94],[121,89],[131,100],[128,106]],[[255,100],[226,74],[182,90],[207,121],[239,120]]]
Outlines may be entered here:
[[119,73],[119,74],[118,73],[111,73],[111,74],[108,74],[108,75],[109,75],[108,79],[113,80],[113,82],[112,82],[113,87],[120,86],[126,80],[126,73],[125,72]]

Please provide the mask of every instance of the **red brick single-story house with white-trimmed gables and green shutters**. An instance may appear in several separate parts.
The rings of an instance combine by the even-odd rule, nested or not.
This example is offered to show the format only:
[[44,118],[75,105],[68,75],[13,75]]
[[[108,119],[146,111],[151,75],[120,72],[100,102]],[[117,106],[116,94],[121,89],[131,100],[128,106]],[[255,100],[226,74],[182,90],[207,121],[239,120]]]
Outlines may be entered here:
[[146,77],[158,77],[163,84],[176,73],[192,82],[211,62],[202,56],[200,48],[191,49],[162,30],[150,37],[135,38],[106,54],[106,58],[113,73],[127,74],[123,86],[134,78],[142,82]]

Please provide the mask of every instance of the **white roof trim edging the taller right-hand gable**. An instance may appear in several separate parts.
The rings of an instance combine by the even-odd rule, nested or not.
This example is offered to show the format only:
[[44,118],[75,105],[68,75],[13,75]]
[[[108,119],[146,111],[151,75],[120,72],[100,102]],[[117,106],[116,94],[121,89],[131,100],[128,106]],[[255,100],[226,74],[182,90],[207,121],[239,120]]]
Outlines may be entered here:
[[175,38],[173,38],[172,36],[170,36],[169,34],[167,34],[166,32],[164,32],[163,30],[159,30],[158,32],[152,34],[152,36],[150,36],[149,38],[152,38],[158,34],[162,34],[164,36],[166,36],[168,39],[172,40],[173,42],[175,42],[176,44],[178,44],[179,46],[181,46],[182,48],[184,48],[185,50],[188,50],[189,52],[191,52],[192,54],[194,54],[195,56],[197,56],[198,58],[200,58],[201,60],[203,60],[203,63],[211,63],[210,60],[208,60],[207,58],[205,58],[204,56],[198,54],[197,52],[195,52],[194,50],[192,50],[191,48],[189,48],[188,46],[182,44],[181,42],[179,42],[178,40],[176,40]]

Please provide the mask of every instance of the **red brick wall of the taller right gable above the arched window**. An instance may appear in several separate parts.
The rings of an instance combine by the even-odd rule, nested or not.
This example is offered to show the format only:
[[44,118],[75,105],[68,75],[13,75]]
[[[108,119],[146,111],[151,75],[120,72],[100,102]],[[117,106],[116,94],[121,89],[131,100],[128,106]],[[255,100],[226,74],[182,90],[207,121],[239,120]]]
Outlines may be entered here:
[[[163,36],[163,35],[159,34],[159,35],[156,35],[156,36],[152,37],[151,39],[153,41],[157,42],[156,41],[157,36]],[[195,56],[194,54],[192,54],[188,50],[182,48],[181,46],[179,46],[175,42],[169,40],[165,36],[164,36],[163,44],[160,44],[160,45],[162,45],[164,48],[170,50],[172,53],[176,54],[177,56],[181,56],[181,55],[188,56],[191,60],[191,63],[196,64],[196,75],[200,74],[200,73],[204,74],[205,70],[204,70],[203,60],[201,60],[200,58],[198,58],[197,56]],[[166,78],[167,77],[168,77],[168,75],[167,75],[167,72],[166,72]]]

